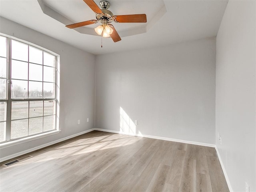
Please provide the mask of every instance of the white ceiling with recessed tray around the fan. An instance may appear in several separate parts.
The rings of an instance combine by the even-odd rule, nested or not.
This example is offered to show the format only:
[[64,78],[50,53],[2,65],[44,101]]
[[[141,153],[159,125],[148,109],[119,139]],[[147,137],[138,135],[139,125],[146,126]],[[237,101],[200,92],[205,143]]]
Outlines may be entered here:
[[[80,32],[43,13],[37,0],[0,0],[0,16],[92,54],[163,46],[216,36],[228,0],[108,0],[114,15],[146,14],[145,24],[112,23],[122,40]],[[43,0],[53,12],[72,22],[95,19],[83,0]],[[99,4],[100,0],[95,0]],[[163,16],[161,14],[164,14]],[[162,16],[162,17],[161,17]],[[72,24],[72,23],[68,23]],[[92,30],[98,24],[81,27]],[[138,32],[139,31],[139,32]],[[131,35],[132,33],[140,33]]]

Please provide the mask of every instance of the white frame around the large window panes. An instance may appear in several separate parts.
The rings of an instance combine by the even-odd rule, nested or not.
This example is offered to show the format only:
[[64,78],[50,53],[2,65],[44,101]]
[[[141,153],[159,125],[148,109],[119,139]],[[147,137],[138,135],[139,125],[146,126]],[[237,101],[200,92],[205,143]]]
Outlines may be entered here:
[[[61,130],[59,128],[59,107],[60,107],[60,56],[50,50],[47,50],[45,48],[42,48],[36,44],[32,44],[30,42],[18,39],[18,38],[14,38],[12,36],[8,36],[6,34],[2,34],[0,33],[0,36],[4,36],[7,38],[7,64],[6,64],[6,98],[5,99],[0,99],[0,102],[7,102],[7,113],[6,113],[6,131],[5,131],[5,141],[0,142],[0,149],[2,148],[6,148],[9,146],[14,146],[17,144],[22,144],[24,142],[29,142],[32,140],[36,140],[39,138],[44,138],[46,136],[50,136],[50,135],[54,135],[54,134],[58,134]],[[55,98],[11,98],[11,70],[9,70],[11,68],[11,62],[12,62],[12,56],[11,56],[11,41],[15,40],[18,42],[22,42],[24,44],[27,44],[28,46],[33,46],[37,49],[42,50],[43,52],[47,52],[49,54],[52,54],[55,56]],[[29,63],[29,62],[28,62]],[[42,64],[43,66],[43,64]],[[29,81],[28,81],[29,82]],[[43,81],[42,81],[43,83]],[[24,137],[20,137],[20,138],[16,138],[16,139],[11,139],[10,135],[11,135],[11,104],[13,101],[28,101],[28,103],[30,101],[51,101],[54,100],[55,101],[55,129],[54,130],[48,130],[45,132],[40,132],[38,134],[33,134],[33,135],[28,135],[28,136],[24,136]],[[43,105],[44,107],[44,105]],[[29,110],[29,109],[28,109]],[[31,117],[28,116],[28,121]],[[29,126],[29,125],[28,125]]]

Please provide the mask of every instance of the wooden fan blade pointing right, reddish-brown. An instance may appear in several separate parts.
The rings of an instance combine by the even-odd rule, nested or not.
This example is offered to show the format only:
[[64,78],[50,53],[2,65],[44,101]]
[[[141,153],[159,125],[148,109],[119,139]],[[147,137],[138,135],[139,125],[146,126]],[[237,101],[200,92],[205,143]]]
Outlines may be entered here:
[[115,15],[114,20],[120,23],[146,23],[146,14],[134,14],[134,15]]

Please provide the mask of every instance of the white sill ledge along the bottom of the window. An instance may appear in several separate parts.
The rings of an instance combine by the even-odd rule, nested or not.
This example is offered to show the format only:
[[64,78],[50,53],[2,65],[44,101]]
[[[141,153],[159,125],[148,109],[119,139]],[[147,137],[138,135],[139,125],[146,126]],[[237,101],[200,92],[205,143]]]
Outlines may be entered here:
[[9,141],[9,142],[1,143],[0,144],[0,150],[3,149],[3,148],[10,147],[10,146],[15,146],[15,145],[30,142],[30,141],[33,141],[33,140],[37,140],[37,139],[40,139],[40,138],[55,135],[55,134],[58,134],[59,132],[60,132],[60,130],[54,130],[54,131],[42,133],[42,134],[39,134],[39,135],[33,135],[33,136],[30,136],[30,137],[21,138],[21,139]]

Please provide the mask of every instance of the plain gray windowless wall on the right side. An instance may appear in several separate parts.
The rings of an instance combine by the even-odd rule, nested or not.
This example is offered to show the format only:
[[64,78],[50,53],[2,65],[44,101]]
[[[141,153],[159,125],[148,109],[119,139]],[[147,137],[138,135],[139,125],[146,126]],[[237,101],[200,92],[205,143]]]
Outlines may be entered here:
[[256,191],[255,9],[229,1],[216,40],[216,144],[234,191]]

